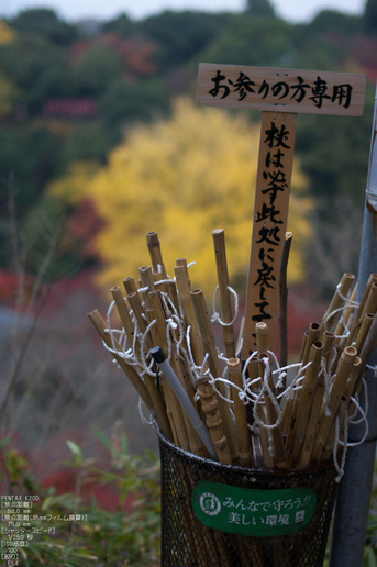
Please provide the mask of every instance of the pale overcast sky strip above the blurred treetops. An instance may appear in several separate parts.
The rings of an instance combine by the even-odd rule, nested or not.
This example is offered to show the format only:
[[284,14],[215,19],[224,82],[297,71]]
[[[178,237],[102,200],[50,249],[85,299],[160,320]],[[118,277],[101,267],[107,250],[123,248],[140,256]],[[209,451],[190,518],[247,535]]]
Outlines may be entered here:
[[[363,12],[366,0],[271,0],[277,13],[291,22],[310,21],[328,8],[347,13]],[[246,0],[0,0],[0,16],[10,18],[26,8],[52,8],[65,20],[110,20],[122,12],[143,19],[164,10],[232,11],[244,9]]]

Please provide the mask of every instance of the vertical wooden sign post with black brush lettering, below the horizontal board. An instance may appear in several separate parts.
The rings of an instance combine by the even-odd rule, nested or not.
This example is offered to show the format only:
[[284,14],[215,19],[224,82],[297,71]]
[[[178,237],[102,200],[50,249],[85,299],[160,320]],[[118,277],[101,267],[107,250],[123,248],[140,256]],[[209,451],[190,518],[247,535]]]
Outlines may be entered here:
[[268,348],[277,331],[279,268],[287,230],[297,114],[264,112],[254,205],[253,245],[247,281],[244,343],[256,349],[255,324],[268,325]]

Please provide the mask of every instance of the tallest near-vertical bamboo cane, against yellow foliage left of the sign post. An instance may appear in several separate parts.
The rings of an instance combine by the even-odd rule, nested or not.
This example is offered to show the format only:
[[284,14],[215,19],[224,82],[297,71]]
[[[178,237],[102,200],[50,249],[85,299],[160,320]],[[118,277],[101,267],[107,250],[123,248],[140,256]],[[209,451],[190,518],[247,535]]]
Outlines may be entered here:
[[228,358],[235,357],[232,299],[229,290],[229,275],[225,251],[225,235],[222,229],[212,231],[214,256],[217,262],[218,281],[221,301],[222,332]]

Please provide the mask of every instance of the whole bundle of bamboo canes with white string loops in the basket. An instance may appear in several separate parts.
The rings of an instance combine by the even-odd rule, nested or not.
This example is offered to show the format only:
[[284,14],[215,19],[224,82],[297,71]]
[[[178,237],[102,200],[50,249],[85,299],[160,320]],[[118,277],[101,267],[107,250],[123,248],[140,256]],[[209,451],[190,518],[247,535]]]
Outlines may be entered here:
[[[224,232],[212,235],[225,355],[217,348],[203,292],[191,289],[186,259],[176,260],[171,279],[157,233],[147,234],[151,266],[140,268],[138,285],[127,277],[123,290],[111,290],[122,329],[113,330],[111,316],[106,322],[98,311],[89,313],[91,323],[160,431],[182,449],[247,468],[300,469],[331,459],[345,441],[368,348],[376,344],[377,275],[356,305],[355,277],[344,274],[322,321],[309,325],[286,388],[267,352],[265,323],[256,324],[257,351],[247,360],[236,357]],[[168,373],[152,356],[157,347]]]

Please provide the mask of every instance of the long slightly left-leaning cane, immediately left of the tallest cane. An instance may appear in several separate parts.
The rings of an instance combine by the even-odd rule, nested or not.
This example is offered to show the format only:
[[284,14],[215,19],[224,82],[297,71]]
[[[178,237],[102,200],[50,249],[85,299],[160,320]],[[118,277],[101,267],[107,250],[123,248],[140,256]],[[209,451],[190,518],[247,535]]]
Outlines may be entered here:
[[[196,318],[198,321],[199,332],[201,336],[201,342],[203,345],[203,349],[209,355],[209,367],[211,374],[214,378],[220,378],[222,376],[220,362],[218,358],[218,352],[214,343],[213,331],[211,326],[210,316],[207,311],[206,300],[203,292],[200,289],[195,289],[190,291],[190,296],[192,298],[193,309],[196,313]],[[232,458],[236,460],[239,458],[237,449],[236,449],[236,438],[235,431],[233,426],[233,420],[230,411],[229,403],[224,400],[225,389],[222,382],[219,385],[219,392],[221,396],[218,396],[219,410],[224,427],[224,432],[226,435],[226,440],[229,443],[230,452]]]

